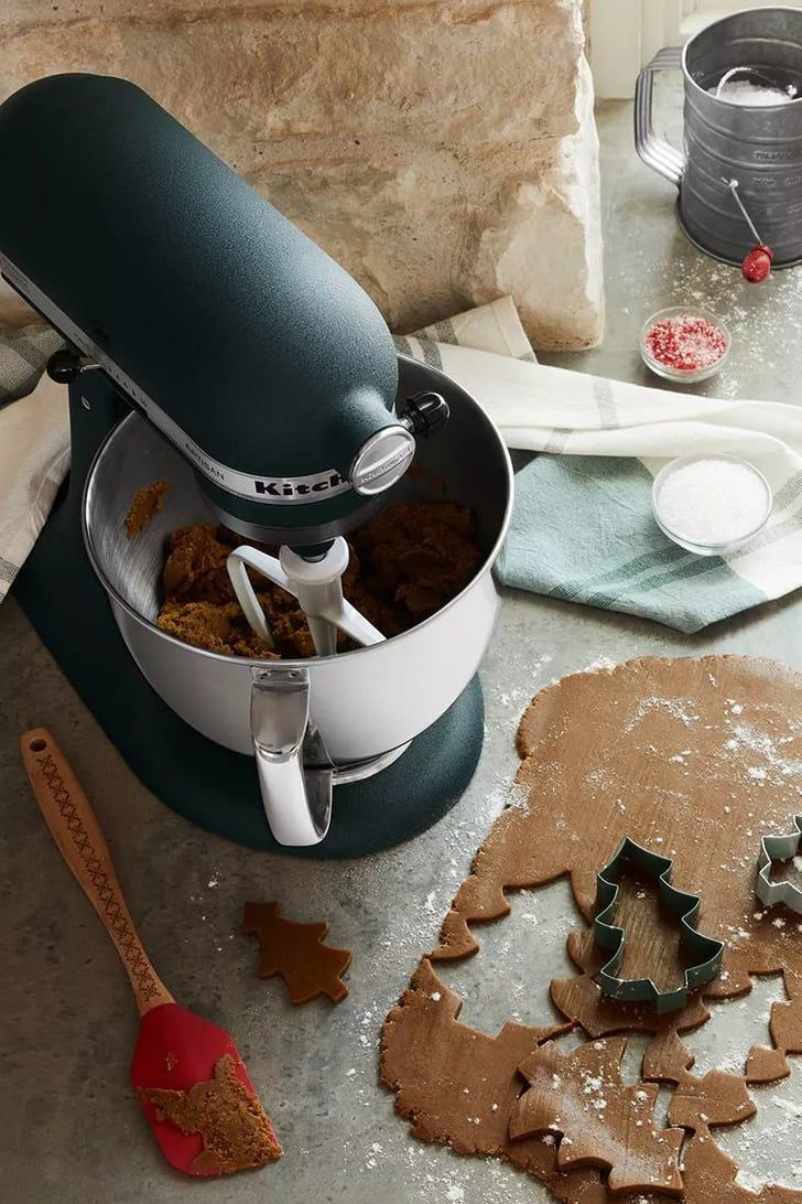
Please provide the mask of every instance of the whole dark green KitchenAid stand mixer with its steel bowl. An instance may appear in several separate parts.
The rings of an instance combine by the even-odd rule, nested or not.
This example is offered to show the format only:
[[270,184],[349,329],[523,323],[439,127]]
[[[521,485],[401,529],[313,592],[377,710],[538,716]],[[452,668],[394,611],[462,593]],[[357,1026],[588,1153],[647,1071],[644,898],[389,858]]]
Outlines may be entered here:
[[[70,386],[70,488],[16,585],[40,635],[145,784],[214,831],[338,856],[428,826],[481,749],[511,504],[492,423],[398,356],[356,282],[135,85],[23,88],[0,157],[0,271],[70,344],[49,365]],[[164,509],[129,541],[159,479]],[[474,510],[481,566],[385,639],[343,598],[344,537],[434,480]],[[269,647],[255,571],[296,595],[315,657],[224,656],[155,625],[166,539],[209,517],[242,537],[228,571],[253,628]],[[362,647],[338,655],[338,631]]]

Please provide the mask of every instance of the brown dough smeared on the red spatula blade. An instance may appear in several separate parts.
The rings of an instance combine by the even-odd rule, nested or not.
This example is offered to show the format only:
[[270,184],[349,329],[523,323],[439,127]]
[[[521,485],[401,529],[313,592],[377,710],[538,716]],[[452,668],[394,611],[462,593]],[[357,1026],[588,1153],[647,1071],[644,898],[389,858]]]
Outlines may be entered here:
[[265,1167],[281,1156],[269,1117],[239,1080],[231,1054],[215,1063],[214,1078],[189,1091],[149,1087],[139,1094],[156,1109],[158,1120],[203,1138],[191,1175],[231,1175]]

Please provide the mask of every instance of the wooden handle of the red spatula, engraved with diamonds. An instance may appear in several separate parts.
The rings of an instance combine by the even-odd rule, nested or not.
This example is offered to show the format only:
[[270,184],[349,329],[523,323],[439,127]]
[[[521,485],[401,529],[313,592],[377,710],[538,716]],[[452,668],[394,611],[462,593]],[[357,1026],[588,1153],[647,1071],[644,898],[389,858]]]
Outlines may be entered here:
[[103,833],[70,762],[43,727],[25,732],[19,743],[36,802],[61,856],[123,958],[139,1015],[160,1003],[174,1003],[142,948]]

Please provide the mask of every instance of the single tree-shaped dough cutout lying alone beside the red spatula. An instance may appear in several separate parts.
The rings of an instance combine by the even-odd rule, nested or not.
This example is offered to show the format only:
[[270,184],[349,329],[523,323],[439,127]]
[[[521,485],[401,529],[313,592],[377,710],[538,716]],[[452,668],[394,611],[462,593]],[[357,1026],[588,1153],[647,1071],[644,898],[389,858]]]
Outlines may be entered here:
[[317,995],[339,1003],[347,995],[341,975],[351,964],[352,954],[323,944],[327,923],[285,920],[278,903],[245,903],[239,931],[259,937],[259,978],[280,974],[292,1003],[308,1003]]

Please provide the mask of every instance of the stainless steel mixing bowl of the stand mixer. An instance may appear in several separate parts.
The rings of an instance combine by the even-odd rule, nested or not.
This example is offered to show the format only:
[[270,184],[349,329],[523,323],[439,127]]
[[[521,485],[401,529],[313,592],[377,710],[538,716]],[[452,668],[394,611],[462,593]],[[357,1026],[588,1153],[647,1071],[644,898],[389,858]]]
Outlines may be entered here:
[[[451,419],[445,430],[421,442],[418,471],[386,500],[451,498],[470,506],[483,559],[462,594],[411,631],[339,656],[280,662],[308,690],[310,730],[322,738],[334,784],[384,768],[447,710],[476,672],[498,608],[491,571],[512,502],[506,448],[481,407],[442,373],[404,356],[399,372],[399,397],[434,389],[447,400]],[[125,517],[133,495],[162,479],[170,482],[164,509],[129,539]],[[438,480],[445,482],[445,492]],[[156,627],[167,537],[179,526],[203,521],[209,521],[209,513],[186,461],[143,419],[125,418],[95,458],[83,508],[87,551],[123,639],[150,685],[182,719],[226,748],[256,752],[277,839],[315,843],[323,824],[308,814],[308,807],[304,811],[303,798],[292,797],[291,787],[285,791],[289,814],[277,815],[275,805],[267,805],[265,774],[272,769],[257,730],[259,691],[265,689],[265,672],[278,662],[221,656]]]

